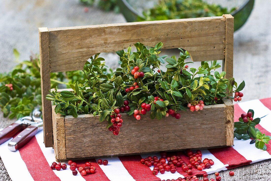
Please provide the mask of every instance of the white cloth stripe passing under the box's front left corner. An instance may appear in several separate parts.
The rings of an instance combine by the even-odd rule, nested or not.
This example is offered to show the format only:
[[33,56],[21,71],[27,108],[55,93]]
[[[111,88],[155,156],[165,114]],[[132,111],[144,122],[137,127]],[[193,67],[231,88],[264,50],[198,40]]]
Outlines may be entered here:
[[[51,166],[51,164],[55,161],[55,155],[54,155],[54,149],[53,148],[46,148],[44,146],[43,143],[43,131],[40,131],[36,134],[36,139],[38,142],[38,145],[40,146],[40,149],[44,155],[44,157],[46,158],[47,162],[49,163],[49,165]],[[54,173],[56,174],[57,177],[59,177],[60,180],[70,180],[71,176],[78,181],[85,181],[85,179],[82,177],[81,174],[77,174],[76,177],[74,177],[72,175],[72,172],[69,169],[69,165],[68,162],[62,162],[61,164],[66,164],[67,165],[67,169],[66,170],[62,170],[57,171],[57,170],[53,170]]]

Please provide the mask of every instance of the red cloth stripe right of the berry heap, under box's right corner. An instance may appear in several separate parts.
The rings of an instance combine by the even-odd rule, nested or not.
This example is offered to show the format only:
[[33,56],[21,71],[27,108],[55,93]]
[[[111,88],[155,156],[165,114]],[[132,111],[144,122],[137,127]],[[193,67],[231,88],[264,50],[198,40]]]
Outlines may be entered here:
[[230,167],[251,162],[251,160],[247,160],[243,155],[234,150],[233,147],[212,148],[208,150],[223,164],[228,164]]

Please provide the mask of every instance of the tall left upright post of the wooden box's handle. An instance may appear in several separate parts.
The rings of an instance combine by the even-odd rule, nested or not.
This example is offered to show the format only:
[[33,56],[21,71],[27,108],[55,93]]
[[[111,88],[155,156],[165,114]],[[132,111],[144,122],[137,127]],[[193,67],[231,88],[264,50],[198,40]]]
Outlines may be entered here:
[[38,28],[38,34],[40,42],[40,76],[44,144],[45,147],[53,147],[52,105],[51,101],[46,100],[46,95],[51,88],[49,32],[47,28]]

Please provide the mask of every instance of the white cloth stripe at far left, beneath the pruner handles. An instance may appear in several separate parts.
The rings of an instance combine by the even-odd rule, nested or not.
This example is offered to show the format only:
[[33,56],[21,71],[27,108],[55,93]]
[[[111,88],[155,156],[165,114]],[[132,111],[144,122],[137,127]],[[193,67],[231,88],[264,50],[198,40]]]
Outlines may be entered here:
[[[2,129],[0,129],[0,131],[1,130]],[[8,149],[9,141],[11,141],[11,139],[0,145],[0,155],[11,180],[21,181],[23,179],[27,181],[34,181],[21,158],[20,152],[18,150],[11,152]],[[16,165],[17,169],[14,169],[14,164]]]

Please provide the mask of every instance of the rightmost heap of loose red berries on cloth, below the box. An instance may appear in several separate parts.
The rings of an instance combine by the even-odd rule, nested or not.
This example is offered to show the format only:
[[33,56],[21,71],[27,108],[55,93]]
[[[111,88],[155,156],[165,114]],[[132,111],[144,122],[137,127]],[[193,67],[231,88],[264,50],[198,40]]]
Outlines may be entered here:
[[202,154],[200,150],[197,150],[196,153],[193,153],[191,150],[186,150],[185,153],[189,157],[191,166],[194,166],[199,171],[209,169],[212,165],[214,165],[214,161],[212,159],[205,158],[203,161],[201,161]]

